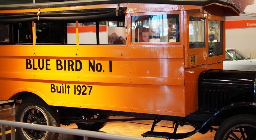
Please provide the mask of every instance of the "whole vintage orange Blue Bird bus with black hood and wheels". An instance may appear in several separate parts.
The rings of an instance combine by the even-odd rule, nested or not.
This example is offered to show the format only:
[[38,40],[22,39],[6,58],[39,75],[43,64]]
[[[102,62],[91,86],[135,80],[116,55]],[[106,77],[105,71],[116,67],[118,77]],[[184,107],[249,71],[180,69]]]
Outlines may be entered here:
[[[84,0],[0,6],[0,100],[19,99],[15,121],[99,130],[154,119],[143,137],[255,140],[256,73],[222,70],[219,0]],[[109,119],[109,116],[133,119]],[[155,132],[161,120],[174,132]],[[195,130],[178,134],[178,126]],[[213,126],[217,126],[214,127]],[[24,140],[57,133],[17,129]]]

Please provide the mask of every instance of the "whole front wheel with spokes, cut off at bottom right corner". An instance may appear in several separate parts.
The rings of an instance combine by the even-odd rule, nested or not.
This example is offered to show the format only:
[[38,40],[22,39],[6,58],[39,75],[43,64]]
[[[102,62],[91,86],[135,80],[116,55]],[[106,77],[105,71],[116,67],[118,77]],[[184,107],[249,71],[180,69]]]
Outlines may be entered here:
[[218,128],[214,140],[255,140],[256,116],[241,114],[225,120]]

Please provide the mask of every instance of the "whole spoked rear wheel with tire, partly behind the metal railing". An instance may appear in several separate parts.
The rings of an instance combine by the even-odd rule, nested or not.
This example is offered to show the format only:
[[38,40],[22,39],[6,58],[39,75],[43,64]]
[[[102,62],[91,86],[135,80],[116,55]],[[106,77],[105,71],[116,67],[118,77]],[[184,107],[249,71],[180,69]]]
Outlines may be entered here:
[[[15,121],[30,124],[60,126],[57,110],[38,98],[28,98],[20,103]],[[59,134],[48,131],[38,131],[26,128],[16,129],[22,140],[57,140]]]

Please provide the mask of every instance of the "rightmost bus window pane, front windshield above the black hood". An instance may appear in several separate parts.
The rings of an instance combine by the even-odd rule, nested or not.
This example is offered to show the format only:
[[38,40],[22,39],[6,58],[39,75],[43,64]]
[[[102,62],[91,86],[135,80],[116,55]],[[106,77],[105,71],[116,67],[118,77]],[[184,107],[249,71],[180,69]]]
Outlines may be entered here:
[[209,57],[223,54],[222,21],[209,20],[208,23],[208,46]]

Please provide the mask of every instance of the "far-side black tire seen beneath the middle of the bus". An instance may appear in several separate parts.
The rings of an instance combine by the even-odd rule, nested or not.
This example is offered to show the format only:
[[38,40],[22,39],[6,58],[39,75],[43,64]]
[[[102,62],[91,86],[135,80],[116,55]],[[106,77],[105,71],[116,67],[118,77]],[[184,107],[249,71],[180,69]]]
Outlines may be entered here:
[[[109,119],[109,115],[100,115],[99,119]],[[107,124],[107,122],[100,122],[100,123],[77,123],[77,128],[82,130],[90,130],[90,131],[98,131],[102,127],[104,127]]]

